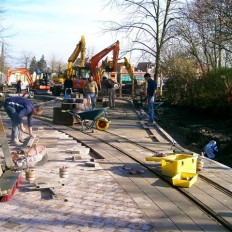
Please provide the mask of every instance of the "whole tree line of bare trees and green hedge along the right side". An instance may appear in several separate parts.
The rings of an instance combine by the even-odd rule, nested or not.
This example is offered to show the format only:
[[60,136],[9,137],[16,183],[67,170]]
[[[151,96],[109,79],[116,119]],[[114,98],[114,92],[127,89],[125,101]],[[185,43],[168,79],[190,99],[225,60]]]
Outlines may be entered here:
[[168,77],[165,99],[177,106],[232,114],[231,0],[110,0],[123,15],[105,33],[126,38],[125,54]]

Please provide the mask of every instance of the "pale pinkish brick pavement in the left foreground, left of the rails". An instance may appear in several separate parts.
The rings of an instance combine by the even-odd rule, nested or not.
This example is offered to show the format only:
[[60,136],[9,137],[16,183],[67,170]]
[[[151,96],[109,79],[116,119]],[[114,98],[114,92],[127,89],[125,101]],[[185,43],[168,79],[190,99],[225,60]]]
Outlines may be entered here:
[[[9,136],[10,122],[4,115],[3,120]],[[35,128],[43,125],[34,121]],[[90,154],[71,160],[67,149],[81,149],[79,143],[46,126],[36,133],[51,140],[47,147],[49,161],[35,168],[37,181],[58,185],[61,181],[64,186],[55,188],[57,198],[49,199],[47,191],[28,191],[31,184],[22,173],[23,180],[14,197],[0,205],[0,231],[153,231],[148,218],[110,172],[97,161],[95,167],[85,166]],[[68,168],[68,178],[59,177],[63,166]]]

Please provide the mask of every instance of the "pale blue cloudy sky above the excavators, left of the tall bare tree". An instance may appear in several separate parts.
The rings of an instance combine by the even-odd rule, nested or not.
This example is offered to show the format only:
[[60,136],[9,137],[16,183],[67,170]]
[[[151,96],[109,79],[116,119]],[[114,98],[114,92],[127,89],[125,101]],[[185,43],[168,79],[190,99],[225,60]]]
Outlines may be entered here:
[[[30,52],[37,61],[56,57],[67,62],[76,44],[85,36],[86,47],[97,53],[117,39],[102,33],[100,21],[115,20],[104,7],[107,0],[2,0],[5,9],[1,24],[8,28],[6,53],[8,62]],[[16,67],[11,67],[16,68]]]

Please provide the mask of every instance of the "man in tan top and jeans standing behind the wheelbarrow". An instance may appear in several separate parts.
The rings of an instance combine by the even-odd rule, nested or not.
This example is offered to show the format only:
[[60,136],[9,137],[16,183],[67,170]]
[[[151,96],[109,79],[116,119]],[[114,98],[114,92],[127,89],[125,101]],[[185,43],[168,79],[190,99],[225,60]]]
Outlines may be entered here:
[[93,80],[93,77],[90,76],[88,81],[84,86],[84,94],[91,101],[90,109],[93,110],[96,107],[97,96],[98,96],[98,86],[96,81]]

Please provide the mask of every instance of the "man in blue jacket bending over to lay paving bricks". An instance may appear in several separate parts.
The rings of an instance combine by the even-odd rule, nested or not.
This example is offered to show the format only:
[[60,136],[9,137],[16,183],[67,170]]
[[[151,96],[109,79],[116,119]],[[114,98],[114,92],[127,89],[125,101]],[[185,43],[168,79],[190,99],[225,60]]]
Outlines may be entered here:
[[[11,145],[22,145],[22,133],[26,132],[23,125],[23,118],[27,117],[27,125],[30,137],[34,137],[32,133],[32,116],[41,115],[42,107],[34,105],[31,101],[23,97],[9,97],[4,103],[4,109],[11,119]],[[21,141],[21,142],[20,142]]]

